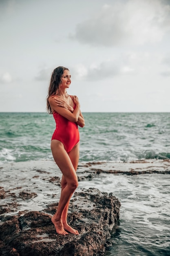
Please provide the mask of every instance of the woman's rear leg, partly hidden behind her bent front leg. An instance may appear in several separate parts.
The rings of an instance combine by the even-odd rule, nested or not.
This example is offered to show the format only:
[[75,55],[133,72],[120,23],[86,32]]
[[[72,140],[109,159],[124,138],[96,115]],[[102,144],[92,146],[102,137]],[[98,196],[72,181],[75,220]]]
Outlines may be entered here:
[[[68,153],[68,155],[71,159],[71,162],[74,166],[75,171],[77,171],[77,166],[78,166],[78,162],[79,162],[79,143],[77,143],[75,145],[75,147]],[[64,175],[62,176],[61,185],[62,185],[62,189],[64,189],[64,187],[66,186],[66,179],[65,179]],[[69,207],[69,202],[66,205],[66,207],[63,211],[63,214],[62,214],[62,222],[63,222],[64,229],[70,233],[78,235],[79,232],[76,229],[73,229],[72,227],[70,227],[67,223],[68,207]]]

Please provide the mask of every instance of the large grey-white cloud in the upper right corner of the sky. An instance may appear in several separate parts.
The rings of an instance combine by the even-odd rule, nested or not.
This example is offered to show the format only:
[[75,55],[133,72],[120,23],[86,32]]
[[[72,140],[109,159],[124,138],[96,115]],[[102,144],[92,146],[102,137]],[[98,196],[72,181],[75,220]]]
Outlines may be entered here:
[[170,30],[170,5],[161,0],[128,0],[104,5],[70,36],[93,46],[142,45],[161,41]]

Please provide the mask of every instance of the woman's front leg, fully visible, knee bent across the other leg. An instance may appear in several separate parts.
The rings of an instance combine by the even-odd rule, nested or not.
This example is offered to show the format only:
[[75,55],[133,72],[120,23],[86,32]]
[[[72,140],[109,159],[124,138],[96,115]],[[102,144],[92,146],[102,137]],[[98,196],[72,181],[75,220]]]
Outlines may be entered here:
[[75,168],[71,162],[70,157],[66,153],[66,150],[64,149],[64,145],[62,144],[62,142],[52,140],[51,150],[53,158],[57,166],[62,171],[62,174],[64,175],[64,178],[66,180],[66,186],[62,189],[57,212],[51,220],[55,225],[56,232],[58,234],[66,235],[68,233],[64,230],[64,226],[62,223],[62,215],[64,209],[69,204],[71,196],[73,195],[75,189],[78,186],[78,179],[75,173]]

